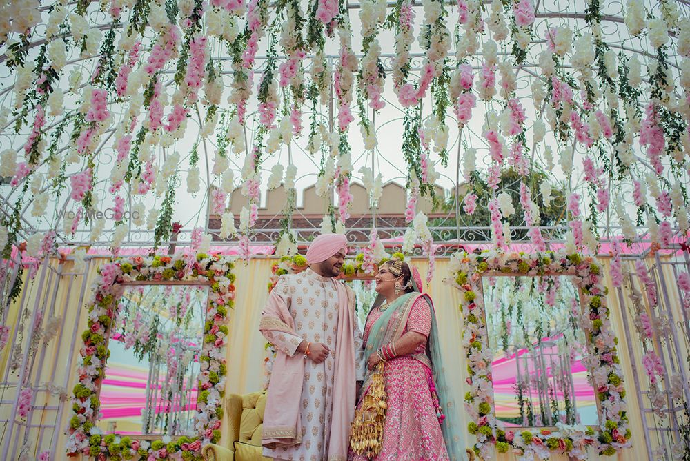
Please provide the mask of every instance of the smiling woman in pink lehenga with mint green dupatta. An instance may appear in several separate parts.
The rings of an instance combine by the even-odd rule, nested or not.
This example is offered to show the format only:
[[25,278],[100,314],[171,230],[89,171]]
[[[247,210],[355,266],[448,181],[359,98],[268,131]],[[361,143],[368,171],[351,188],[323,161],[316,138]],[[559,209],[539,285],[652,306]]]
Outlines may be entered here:
[[[450,452],[455,459],[449,442],[457,438],[450,430],[460,428],[443,424],[446,401],[435,385],[440,353],[431,297],[420,293],[419,273],[406,262],[382,264],[375,281],[378,297],[364,326],[368,371],[355,413],[350,458],[448,460]],[[381,369],[384,393],[376,384]],[[373,400],[377,403],[372,405]],[[384,407],[385,416],[375,424],[382,435],[372,436],[372,413]],[[444,442],[442,427],[453,440]],[[374,450],[366,448],[374,445]]]

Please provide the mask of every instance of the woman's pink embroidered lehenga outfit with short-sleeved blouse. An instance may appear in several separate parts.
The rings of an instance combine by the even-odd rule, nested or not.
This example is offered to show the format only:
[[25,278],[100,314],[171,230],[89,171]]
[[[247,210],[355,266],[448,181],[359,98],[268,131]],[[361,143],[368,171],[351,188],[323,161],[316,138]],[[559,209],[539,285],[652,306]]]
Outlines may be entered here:
[[[402,304],[397,303],[399,300]],[[429,337],[433,314],[428,296],[408,293],[394,303],[396,306],[389,307],[395,309],[394,312],[373,308],[369,313],[364,328],[365,356],[375,353],[382,341],[385,344],[397,340],[408,331]],[[441,430],[444,416],[436,396],[433,365],[426,354],[426,342],[412,354],[386,361],[384,378],[388,407],[382,448],[375,459],[448,460]],[[366,386],[362,391],[366,392]],[[353,451],[350,451],[349,458],[357,461],[367,459]]]

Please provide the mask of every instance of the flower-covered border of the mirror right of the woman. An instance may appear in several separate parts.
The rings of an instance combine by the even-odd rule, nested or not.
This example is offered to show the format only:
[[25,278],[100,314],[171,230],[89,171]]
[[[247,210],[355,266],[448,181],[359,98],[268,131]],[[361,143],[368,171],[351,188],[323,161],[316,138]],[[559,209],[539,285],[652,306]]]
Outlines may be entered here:
[[[565,453],[578,460],[586,459],[586,447],[591,445],[600,454],[614,455],[619,449],[629,447],[631,437],[628,428],[627,405],[623,387],[622,369],[617,355],[615,337],[609,321],[606,305],[608,289],[603,284],[602,268],[593,257],[566,254],[565,251],[544,253],[506,253],[497,249],[475,253],[464,251],[451,257],[452,278],[446,282],[462,293],[460,309],[464,316],[464,348],[469,360],[467,383],[471,391],[465,395],[465,407],[473,418],[468,430],[477,435],[475,453],[483,458],[491,457],[491,446],[500,453],[512,449],[518,455],[537,455],[549,459],[551,451]],[[515,433],[505,431],[495,418],[493,384],[491,377],[492,355],[486,333],[486,313],[482,276],[506,275],[539,276],[570,275],[580,290],[580,303],[589,310],[580,318],[588,339],[589,357],[582,360],[593,381],[600,406],[601,431],[591,427],[556,424],[556,431],[542,429]]]

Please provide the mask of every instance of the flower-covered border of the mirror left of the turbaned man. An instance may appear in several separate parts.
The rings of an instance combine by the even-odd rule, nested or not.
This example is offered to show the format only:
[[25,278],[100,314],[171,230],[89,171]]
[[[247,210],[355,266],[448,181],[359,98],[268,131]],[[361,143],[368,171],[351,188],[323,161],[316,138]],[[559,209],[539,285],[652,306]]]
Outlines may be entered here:
[[[235,258],[220,255],[156,255],[117,259],[98,268],[95,290],[88,302],[88,328],[81,338],[79,382],[74,388],[72,411],[68,429],[67,454],[88,455],[98,459],[130,459],[139,455],[155,459],[180,453],[184,460],[199,459],[201,447],[220,439],[223,418],[222,399],[225,393],[226,318],[228,308],[235,304]],[[194,277],[193,279],[191,277]],[[128,282],[203,282],[208,284],[208,304],[204,325],[201,373],[197,395],[194,437],[181,436],[177,440],[132,439],[116,434],[101,435],[93,431],[99,409],[99,385],[108,359],[108,337],[115,320],[115,306],[123,284]],[[164,438],[165,439],[165,438]]]

